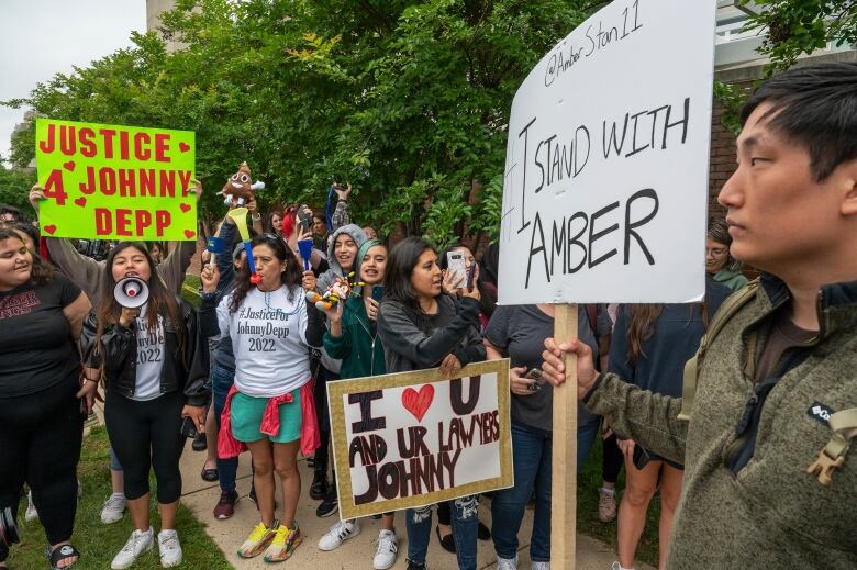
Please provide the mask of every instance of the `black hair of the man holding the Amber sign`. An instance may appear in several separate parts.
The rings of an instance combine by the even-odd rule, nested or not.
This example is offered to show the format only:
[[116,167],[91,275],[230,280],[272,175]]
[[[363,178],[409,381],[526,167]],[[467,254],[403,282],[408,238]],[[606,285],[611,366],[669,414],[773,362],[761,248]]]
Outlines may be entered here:
[[803,146],[816,182],[857,157],[857,64],[797,67],[767,80],[741,110],[741,124],[763,103],[771,128]]

